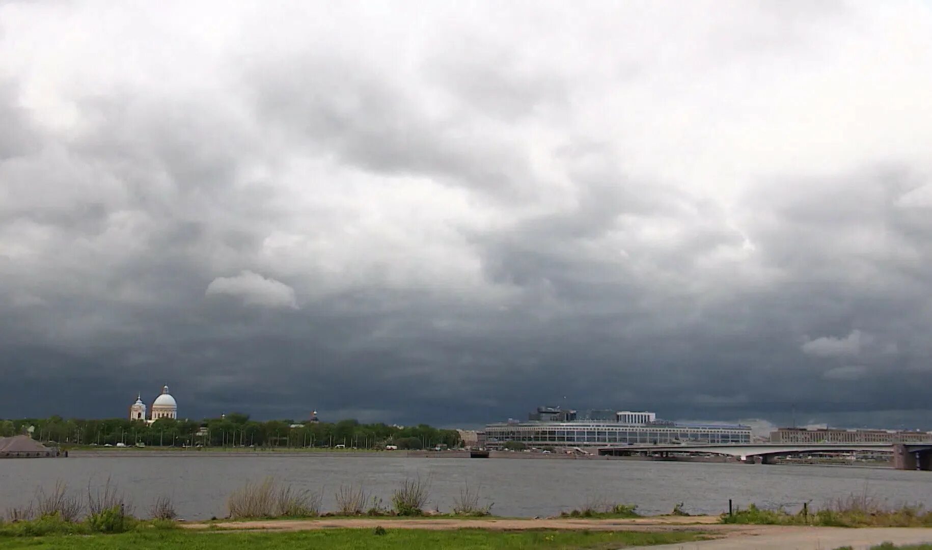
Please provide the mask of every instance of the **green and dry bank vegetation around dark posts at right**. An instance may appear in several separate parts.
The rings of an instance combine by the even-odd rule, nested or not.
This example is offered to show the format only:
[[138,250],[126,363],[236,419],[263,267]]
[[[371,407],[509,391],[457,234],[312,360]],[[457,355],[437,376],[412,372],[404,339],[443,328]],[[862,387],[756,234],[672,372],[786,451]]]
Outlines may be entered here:
[[888,506],[866,494],[835,499],[820,509],[808,503],[799,511],[772,510],[751,504],[746,509],[723,514],[722,523],[755,525],[808,525],[819,527],[932,527],[932,511],[921,505]]

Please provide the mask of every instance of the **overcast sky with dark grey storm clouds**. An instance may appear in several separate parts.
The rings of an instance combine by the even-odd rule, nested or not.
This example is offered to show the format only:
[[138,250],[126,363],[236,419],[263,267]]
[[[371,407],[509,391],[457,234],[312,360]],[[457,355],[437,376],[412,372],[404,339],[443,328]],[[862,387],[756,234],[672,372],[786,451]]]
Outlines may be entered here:
[[0,0],[0,418],[932,429],[932,4]]

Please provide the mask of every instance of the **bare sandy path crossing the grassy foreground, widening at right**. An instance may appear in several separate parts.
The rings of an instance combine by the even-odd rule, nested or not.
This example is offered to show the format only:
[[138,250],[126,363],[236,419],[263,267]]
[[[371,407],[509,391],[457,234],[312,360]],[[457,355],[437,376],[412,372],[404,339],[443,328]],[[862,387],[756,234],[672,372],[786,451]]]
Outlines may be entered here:
[[236,530],[309,530],[309,529],[593,529],[593,530],[701,530],[715,540],[696,543],[650,546],[655,550],[830,550],[850,545],[870,548],[891,542],[898,544],[932,542],[932,529],[839,529],[817,527],[785,527],[772,525],[722,525],[718,516],[663,516],[632,519],[394,519],[378,517],[335,518],[312,520],[229,521],[184,524],[185,529]]

